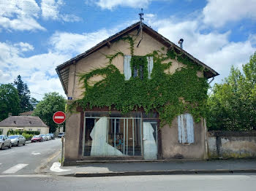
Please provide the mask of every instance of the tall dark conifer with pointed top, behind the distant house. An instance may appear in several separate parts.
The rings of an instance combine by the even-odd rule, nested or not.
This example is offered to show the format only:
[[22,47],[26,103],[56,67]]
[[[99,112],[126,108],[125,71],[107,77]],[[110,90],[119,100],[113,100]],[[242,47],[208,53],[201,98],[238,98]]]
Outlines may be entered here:
[[22,81],[20,75],[15,79],[14,84],[17,87],[18,96],[20,98],[20,112],[29,112],[33,110],[33,106],[30,103],[29,87]]

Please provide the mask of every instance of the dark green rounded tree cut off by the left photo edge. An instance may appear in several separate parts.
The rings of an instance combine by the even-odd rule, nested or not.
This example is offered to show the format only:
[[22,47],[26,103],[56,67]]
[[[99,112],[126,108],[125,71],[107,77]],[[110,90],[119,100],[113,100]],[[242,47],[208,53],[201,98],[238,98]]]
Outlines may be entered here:
[[0,121],[7,118],[9,113],[18,115],[19,111],[18,90],[11,84],[0,85]]

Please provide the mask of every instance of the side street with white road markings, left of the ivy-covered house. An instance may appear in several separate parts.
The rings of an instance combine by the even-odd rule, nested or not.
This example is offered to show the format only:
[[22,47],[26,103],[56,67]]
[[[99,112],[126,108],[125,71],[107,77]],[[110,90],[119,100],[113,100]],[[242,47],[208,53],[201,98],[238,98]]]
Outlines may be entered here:
[[61,139],[54,139],[0,150],[0,176],[37,174],[60,149]]

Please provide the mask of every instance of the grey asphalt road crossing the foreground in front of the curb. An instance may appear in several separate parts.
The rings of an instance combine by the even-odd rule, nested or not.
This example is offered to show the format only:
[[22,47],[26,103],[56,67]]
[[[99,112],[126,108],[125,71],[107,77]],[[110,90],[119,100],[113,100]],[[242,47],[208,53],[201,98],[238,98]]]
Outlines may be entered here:
[[0,176],[3,191],[28,190],[253,190],[255,174],[238,175],[160,175],[115,176],[98,178],[4,177]]

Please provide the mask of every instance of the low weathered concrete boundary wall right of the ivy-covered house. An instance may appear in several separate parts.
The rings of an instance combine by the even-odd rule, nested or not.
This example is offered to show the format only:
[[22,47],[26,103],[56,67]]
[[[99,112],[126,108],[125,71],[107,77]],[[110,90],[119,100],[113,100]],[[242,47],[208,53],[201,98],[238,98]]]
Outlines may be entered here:
[[209,158],[256,157],[256,131],[208,132]]

